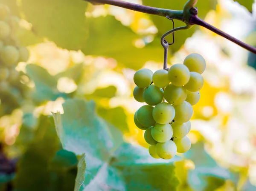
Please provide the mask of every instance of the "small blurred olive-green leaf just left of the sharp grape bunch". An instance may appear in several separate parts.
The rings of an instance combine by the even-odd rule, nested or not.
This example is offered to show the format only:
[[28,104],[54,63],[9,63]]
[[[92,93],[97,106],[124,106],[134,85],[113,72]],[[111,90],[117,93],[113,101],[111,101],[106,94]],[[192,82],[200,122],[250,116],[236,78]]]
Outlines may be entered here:
[[[98,114],[112,125],[118,127],[122,132],[128,132],[127,115],[122,107],[98,108]],[[118,120],[117,120],[118,119]]]

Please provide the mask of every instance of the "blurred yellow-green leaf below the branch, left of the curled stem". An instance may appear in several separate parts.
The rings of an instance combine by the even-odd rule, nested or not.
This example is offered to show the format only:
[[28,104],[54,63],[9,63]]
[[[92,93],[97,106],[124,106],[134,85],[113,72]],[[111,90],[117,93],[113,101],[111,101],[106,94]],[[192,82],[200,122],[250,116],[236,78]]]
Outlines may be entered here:
[[133,42],[141,37],[122,25],[115,17],[108,15],[87,20],[89,37],[81,48],[84,54],[113,57],[119,64],[135,70],[141,68],[148,60],[163,62],[160,40],[155,39],[144,48],[137,48]]

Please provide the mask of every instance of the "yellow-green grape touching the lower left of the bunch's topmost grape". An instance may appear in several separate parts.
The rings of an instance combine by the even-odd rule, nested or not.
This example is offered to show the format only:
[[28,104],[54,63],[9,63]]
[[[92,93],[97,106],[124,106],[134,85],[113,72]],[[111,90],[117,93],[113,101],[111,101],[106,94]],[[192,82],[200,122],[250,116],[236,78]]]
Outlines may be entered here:
[[183,64],[175,64],[169,69],[168,77],[174,86],[184,86],[189,81],[189,69]]

